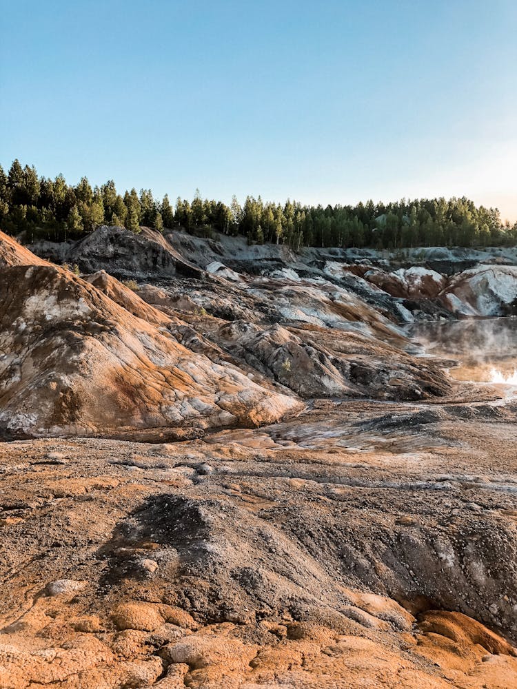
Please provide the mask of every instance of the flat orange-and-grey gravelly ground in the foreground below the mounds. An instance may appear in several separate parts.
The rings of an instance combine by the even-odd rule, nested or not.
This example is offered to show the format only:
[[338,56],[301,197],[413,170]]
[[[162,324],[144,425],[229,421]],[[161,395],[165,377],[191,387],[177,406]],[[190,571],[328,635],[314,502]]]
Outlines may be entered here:
[[0,686],[514,686],[517,428],[387,407],[1,445]]

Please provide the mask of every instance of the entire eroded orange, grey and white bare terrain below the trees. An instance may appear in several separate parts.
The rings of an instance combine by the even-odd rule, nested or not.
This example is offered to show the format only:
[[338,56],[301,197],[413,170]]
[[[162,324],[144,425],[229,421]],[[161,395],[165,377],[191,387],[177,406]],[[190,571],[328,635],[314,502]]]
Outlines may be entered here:
[[404,329],[509,253],[34,248],[83,273],[0,237],[0,686],[517,683],[514,388]]

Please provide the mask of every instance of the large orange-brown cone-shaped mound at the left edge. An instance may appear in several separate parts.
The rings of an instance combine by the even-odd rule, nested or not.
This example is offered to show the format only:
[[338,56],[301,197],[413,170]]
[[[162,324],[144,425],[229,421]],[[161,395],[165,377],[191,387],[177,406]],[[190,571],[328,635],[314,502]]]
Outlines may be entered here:
[[185,349],[165,324],[157,328],[150,320],[159,319],[154,313],[137,318],[63,269],[4,269],[3,432],[84,435],[261,424],[296,407],[234,367]]

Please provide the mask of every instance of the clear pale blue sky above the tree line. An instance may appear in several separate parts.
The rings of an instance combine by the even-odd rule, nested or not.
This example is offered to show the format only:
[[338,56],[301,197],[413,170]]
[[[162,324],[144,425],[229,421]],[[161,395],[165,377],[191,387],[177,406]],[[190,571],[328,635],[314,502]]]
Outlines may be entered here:
[[516,0],[0,0],[0,164],[517,220]]

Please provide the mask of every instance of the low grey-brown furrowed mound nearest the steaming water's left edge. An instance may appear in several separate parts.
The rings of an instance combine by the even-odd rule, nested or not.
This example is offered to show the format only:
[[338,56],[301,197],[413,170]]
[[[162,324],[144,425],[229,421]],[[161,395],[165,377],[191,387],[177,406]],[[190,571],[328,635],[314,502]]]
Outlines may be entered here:
[[303,398],[418,400],[450,392],[438,367],[363,333],[314,326],[263,329],[234,321],[217,328],[212,338]]

